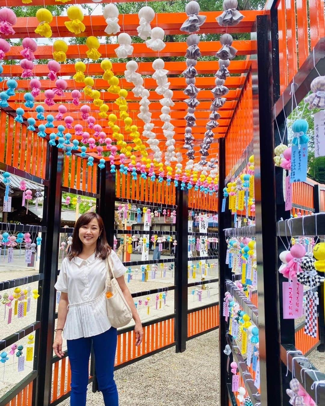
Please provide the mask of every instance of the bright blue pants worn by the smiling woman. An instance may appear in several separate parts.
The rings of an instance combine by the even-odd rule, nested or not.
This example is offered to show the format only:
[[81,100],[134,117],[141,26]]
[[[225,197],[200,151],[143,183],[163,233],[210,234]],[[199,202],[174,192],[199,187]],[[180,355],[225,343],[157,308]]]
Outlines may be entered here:
[[119,398],[114,381],[117,330],[113,327],[105,331],[105,333],[93,337],[67,340],[71,366],[70,405],[86,406],[91,344],[93,344],[95,353],[98,387],[103,393],[104,404],[105,406],[119,406]]

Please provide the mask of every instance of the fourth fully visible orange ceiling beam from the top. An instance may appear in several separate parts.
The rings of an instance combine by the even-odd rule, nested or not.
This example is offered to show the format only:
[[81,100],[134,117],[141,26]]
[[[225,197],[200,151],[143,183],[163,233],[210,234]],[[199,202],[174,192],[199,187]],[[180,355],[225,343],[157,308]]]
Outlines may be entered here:
[[[107,80],[103,79],[94,79],[95,84],[93,86],[93,89],[107,89],[108,88],[108,83]],[[17,80],[17,91],[30,91],[30,85],[29,85],[30,80],[22,79],[22,80]],[[41,90],[46,90],[46,89],[51,89],[53,88],[54,81],[49,80],[49,79],[42,79],[40,80],[41,82]],[[84,83],[78,83],[73,79],[68,79],[67,81],[67,90],[82,90],[85,87]],[[156,89],[157,84],[156,80],[152,78],[143,78],[143,86],[145,89]],[[168,78],[168,82],[170,82],[169,89],[175,90],[175,89],[184,89],[185,87],[185,79],[184,78]],[[225,81],[225,86],[227,86],[229,89],[237,89],[241,88],[243,84],[245,83],[245,76],[228,76],[228,78]],[[125,79],[120,78],[120,83],[119,85],[123,87],[123,89],[131,90],[134,88],[134,84],[127,82]],[[195,80],[195,85],[199,89],[213,89],[215,87],[215,77],[211,76],[201,76],[197,77]],[[0,83],[0,89],[7,89],[6,86],[6,80]]]

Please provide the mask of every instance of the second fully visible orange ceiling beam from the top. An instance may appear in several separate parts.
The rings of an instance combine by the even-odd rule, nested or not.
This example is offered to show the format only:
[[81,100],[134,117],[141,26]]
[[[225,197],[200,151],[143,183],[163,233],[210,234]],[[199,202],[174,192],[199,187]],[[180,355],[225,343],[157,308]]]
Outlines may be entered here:
[[[234,41],[232,43],[237,50],[237,55],[251,55],[256,52],[256,41]],[[98,51],[102,54],[102,58],[116,58],[115,49],[118,44],[102,44]],[[157,52],[147,48],[145,43],[134,43],[133,57],[151,57],[156,58]],[[200,42],[200,52],[202,55],[214,55],[220,48],[219,41]],[[186,42],[167,42],[166,47],[160,51],[160,57],[164,56],[184,56],[186,53]],[[11,47],[11,50],[6,53],[4,59],[22,59],[20,51],[22,47]],[[66,52],[68,58],[87,58],[87,45],[69,45]],[[52,45],[41,45],[34,52],[36,59],[52,59]]]

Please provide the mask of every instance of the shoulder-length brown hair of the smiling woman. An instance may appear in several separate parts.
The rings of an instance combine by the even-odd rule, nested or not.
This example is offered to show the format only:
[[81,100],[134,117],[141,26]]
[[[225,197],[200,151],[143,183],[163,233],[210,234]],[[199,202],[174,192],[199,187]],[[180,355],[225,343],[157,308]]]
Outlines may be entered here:
[[67,255],[68,259],[71,261],[74,257],[78,257],[78,255],[82,252],[82,242],[79,238],[79,229],[80,227],[89,224],[91,220],[96,219],[98,222],[98,227],[100,228],[100,238],[97,240],[97,245],[95,248],[95,256],[100,259],[106,259],[108,255],[111,253],[111,247],[108,245],[106,239],[106,233],[104,228],[103,219],[100,217],[99,214],[89,212],[82,214],[76,224],[74,226],[74,233],[72,235],[72,245],[70,251]]

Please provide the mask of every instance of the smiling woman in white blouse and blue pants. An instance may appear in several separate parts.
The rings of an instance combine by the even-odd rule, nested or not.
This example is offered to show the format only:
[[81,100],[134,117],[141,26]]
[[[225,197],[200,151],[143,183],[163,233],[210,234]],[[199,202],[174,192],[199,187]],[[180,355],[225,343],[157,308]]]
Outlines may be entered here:
[[[61,358],[64,355],[62,337],[67,340],[72,406],[86,405],[91,346],[95,353],[98,384],[103,393],[104,404],[118,406],[113,376],[117,330],[112,324],[119,315],[113,306],[109,307],[110,311],[106,307],[106,301],[113,300],[106,295],[107,262],[110,264],[110,274],[113,273],[111,282],[116,279],[124,302],[128,304],[129,311],[132,311],[136,345],[139,346],[143,330],[124,281],[126,268],[107,243],[102,218],[96,213],[82,214],[74,227],[71,250],[61,264],[55,284],[61,297],[53,348],[55,354]],[[112,296],[116,297],[117,294]],[[103,348],[107,348],[105,358],[102,357]]]

